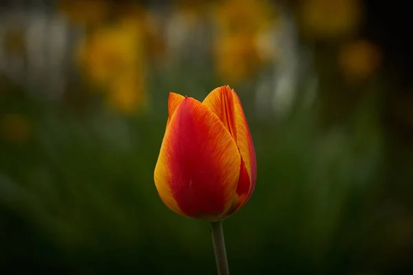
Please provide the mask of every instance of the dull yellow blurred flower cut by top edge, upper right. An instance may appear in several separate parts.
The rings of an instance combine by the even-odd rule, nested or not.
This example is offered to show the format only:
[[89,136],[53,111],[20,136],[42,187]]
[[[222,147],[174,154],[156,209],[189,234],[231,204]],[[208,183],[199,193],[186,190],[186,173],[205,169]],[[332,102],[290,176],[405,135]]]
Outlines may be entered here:
[[302,0],[299,19],[304,34],[314,39],[337,39],[354,33],[362,17],[359,0]]

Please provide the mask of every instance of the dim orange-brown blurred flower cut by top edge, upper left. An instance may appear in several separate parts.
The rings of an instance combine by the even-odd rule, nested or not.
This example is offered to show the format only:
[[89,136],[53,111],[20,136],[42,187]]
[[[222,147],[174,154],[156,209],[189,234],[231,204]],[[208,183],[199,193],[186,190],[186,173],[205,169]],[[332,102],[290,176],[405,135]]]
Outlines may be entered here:
[[95,26],[107,19],[112,7],[105,0],[60,0],[58,8],[74,23]]

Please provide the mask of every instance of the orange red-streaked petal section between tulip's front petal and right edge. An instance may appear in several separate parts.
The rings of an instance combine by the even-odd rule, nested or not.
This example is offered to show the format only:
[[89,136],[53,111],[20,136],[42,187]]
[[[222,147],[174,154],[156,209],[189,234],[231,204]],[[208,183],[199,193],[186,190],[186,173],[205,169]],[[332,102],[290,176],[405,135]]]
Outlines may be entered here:
[[213,89],[202,104],[208,106],[218,116],[236,141],[237,126],[235,124],[235,107],[231,88],[226,85]]

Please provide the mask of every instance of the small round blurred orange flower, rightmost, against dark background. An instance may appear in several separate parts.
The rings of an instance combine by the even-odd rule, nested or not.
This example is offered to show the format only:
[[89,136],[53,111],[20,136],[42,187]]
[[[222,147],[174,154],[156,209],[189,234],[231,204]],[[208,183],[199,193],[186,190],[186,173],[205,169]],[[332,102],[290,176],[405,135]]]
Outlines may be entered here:
[[380,65],[381,52],[369,41],[347,43],[339,50],[339,67],[348,83],[357,84],[367,80]]

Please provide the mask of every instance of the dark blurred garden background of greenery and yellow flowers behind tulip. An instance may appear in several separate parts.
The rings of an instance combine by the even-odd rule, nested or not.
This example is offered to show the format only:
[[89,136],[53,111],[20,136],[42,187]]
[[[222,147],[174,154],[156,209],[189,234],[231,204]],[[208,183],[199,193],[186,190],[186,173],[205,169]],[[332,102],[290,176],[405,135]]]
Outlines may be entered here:
[[[407,2],[407,1],[406,1]],[[233,274],[413,274],[403,1],[0,5],[0,274],[215,274],[153,170],[169,91],[231,85],[257,153]]]

